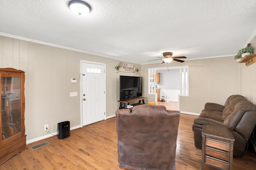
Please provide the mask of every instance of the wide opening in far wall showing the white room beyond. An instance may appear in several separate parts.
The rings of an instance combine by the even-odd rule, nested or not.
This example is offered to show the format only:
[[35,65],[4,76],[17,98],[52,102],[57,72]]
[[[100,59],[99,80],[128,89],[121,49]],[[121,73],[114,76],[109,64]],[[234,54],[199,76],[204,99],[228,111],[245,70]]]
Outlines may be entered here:
[[188,66],[148,68],[148,94],[155,94],[156,104],[166,105],[166,108],[170,107],[168,102],[179,106],[180,96],[189,94],[188,75]]

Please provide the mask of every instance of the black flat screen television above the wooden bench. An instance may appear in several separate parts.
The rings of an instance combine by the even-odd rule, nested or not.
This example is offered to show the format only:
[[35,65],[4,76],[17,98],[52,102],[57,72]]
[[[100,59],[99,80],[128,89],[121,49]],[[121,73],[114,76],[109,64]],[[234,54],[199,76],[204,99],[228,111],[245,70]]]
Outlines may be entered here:
[[142,77],[120,76],[120,100],[142,96]]

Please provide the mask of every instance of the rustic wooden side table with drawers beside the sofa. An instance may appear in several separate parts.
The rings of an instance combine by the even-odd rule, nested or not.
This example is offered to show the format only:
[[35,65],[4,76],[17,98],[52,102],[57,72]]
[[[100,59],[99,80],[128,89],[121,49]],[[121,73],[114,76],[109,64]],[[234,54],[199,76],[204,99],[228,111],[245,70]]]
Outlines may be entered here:
[[234,136],[227,127],[204,125],[202,130],[202,170],[204,165],[222,170],[233,168]]

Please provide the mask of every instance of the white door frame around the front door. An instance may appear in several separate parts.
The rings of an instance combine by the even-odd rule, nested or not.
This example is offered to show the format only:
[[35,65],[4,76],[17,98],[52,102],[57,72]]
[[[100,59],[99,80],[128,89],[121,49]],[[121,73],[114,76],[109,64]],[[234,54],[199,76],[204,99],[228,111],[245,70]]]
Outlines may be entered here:
[[93,61],[86,61],[86,60],[80,60],[80,123],[81,127],[83,127],[83,107],[82,107],[82,64],[83,63],[88,63],[88,64],[98,64],[98,65],[104,65],[104,112],[105,112],[105,117],[104,120],[106,120],[106,64],[105,63],[97,63]]

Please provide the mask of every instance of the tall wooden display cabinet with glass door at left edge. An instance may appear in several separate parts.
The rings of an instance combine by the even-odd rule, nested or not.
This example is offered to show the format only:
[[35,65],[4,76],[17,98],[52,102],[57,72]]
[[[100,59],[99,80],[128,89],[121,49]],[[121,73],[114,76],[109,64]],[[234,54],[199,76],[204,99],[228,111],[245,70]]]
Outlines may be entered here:
[[14,68],[0,68],[1,117],[0,164],[26,149],[24,125],[25,74]]

